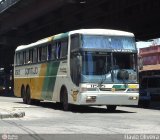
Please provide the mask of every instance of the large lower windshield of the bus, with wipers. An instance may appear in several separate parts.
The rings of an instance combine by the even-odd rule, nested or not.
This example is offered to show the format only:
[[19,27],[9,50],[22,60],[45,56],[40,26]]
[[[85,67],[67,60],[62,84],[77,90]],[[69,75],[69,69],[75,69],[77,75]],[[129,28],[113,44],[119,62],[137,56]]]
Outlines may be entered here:
[[81,82],[137,83],[136,54],[84,52]]

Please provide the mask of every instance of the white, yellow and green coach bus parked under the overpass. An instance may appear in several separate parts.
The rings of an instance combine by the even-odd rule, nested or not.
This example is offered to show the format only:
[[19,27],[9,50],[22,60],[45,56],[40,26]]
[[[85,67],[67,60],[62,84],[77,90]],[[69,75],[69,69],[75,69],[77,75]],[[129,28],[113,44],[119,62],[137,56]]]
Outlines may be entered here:
[[48,100],[70,105],[137,105],[137,49],[134,35],[108,29],[80,29],[18,46],[14,94],[23,102]]

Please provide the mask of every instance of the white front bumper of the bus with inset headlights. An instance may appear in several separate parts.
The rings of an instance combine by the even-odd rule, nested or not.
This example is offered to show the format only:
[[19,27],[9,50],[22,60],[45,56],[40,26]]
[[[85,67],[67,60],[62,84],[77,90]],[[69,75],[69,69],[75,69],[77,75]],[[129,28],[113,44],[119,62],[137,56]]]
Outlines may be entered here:
[[139,93],[79,93],[79,105],[138,105]]

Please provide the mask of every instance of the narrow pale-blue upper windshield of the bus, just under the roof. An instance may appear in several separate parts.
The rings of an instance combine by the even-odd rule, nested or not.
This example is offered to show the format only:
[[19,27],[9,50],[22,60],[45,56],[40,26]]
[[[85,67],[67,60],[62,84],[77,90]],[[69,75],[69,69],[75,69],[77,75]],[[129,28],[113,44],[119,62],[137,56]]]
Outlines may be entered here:
[[82,35],[82,48],[136,51],[134,37]]

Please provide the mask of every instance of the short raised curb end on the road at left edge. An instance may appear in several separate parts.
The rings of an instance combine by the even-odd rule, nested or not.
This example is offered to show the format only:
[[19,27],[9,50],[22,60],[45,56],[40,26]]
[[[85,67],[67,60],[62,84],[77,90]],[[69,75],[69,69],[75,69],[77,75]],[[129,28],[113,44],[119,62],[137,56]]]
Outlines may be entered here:
[[0,119],[5,119],[5,118],[22,118],[24,116],[25,116],[25,112],[23,112],[23,111],[0,113]]

